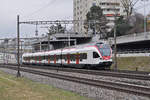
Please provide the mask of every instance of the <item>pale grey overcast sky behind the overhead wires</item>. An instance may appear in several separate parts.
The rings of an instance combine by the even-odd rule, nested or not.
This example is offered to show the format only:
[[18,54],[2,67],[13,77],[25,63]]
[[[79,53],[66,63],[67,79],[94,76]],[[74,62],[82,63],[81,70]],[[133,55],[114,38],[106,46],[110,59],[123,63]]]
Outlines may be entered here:
[[[141,2],[137,5],[137,11],[142,13],[141,5]],[[0,38],[16,36],[17,14],[21,21],[69,20],[73,16],[73,0],[1,0]],[[22,36],[30,36],[31,33],[35,33],[35,26],[21,25]]]

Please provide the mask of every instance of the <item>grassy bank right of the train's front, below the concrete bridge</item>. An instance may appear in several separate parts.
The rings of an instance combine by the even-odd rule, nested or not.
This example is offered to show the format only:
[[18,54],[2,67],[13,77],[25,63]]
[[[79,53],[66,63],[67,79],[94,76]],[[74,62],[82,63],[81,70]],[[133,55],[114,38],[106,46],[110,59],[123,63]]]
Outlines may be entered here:
[[150,57],[118,57],[117,62],[120,70],[150,71]]

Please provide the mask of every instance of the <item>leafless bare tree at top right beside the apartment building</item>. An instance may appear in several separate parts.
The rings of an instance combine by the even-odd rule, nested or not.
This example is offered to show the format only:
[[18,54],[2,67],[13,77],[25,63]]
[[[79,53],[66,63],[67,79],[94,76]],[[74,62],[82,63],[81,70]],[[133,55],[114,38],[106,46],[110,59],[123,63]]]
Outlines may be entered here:
[[137,4],[138,1],[139,0],[121,0],[121,3],[125,9],[127,17],[132,14],[133,8]]

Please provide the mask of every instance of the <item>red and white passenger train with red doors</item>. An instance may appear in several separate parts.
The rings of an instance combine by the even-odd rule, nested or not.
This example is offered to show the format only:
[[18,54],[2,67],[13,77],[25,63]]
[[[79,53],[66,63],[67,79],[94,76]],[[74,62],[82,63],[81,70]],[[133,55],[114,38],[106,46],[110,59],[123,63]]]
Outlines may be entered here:
[[53,51],[27,53],[23,54],[22,57],[23,64],[110,68],[112,49],[108,44],[95,43]]

